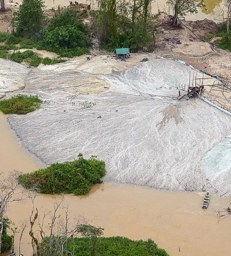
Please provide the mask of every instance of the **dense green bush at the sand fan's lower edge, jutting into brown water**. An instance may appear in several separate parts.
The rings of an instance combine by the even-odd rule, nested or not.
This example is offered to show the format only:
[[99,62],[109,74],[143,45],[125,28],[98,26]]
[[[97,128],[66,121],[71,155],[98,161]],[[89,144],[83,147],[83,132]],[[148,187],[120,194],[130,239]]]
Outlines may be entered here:
[[96,156],[79,159],[51,166],[19,176],[19,182],[27,189],[36,187],[40,193],[60,194],[73,193],[86,194],[92,184],[100,183],[105,175],[104,161],[98,161]]

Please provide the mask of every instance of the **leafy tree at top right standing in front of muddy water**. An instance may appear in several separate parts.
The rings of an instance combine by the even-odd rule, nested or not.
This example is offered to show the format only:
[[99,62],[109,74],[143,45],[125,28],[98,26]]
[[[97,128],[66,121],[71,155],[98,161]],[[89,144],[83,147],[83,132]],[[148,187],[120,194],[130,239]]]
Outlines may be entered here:
[[173,26],[178,24],[178,17],[198,13],[198,8],[205,7],[203,0],[167,0],[166,3],[174,12]]

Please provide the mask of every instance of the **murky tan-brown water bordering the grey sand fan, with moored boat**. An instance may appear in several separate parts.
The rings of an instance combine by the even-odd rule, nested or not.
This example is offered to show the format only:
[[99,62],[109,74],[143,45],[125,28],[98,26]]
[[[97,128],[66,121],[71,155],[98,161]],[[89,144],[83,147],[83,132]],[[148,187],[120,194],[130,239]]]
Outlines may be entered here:
[[[29,156],[8,130],[0,115],[0,171],[23,172],[38,169],[41,164]],[[217,219],[216,211],[229,206],[231,199],[212,196],[208,209],[201,209],[204,193],[174,193],[148,188],[97,184],[85,196],[65,195],[70,216],[83,215],[92,225],[105,228],[105,236],[130,239],[153,239],[172,256],[222,256],[231,251],[231,218]],[[35,206],[52,209],[59,195],[38,195]],[[28,219],[31,203],[10,204],[7,216],[20,227]],[[47,222],[49,220],[46,220]],[[19,234],[16,234],[16,253]],[[21,253],[31,255],[31,239],[26,230]],[[180,252],[179,252],[180,247]]]

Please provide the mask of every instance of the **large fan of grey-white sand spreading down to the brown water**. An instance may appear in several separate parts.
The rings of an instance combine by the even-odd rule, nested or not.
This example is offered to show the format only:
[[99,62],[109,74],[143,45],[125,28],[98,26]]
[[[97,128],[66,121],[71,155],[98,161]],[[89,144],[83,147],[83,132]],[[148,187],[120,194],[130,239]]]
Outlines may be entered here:
[[[55,66],[53,73],[46,73],[51,67],[33,69],[26,89],[36,84],[49,88],[53,79],[54,85],[61,86],[64,77],[75,81],[71,67],[65,73]],[[81,72],[76,69],[75,76],[89,75]],[[81,152],[106,162],[106,182],[226,192],[230,179],[218,180],[207,171],[204,159],[231,133],[231,116],[197,98],[176,100],[176,79],[187,84],[189,72],[192,76],[195,71],[175,61],[153,59],[101,75],[99,79],[111,87],[99,95],[34,92],[44,102],[41,108],[7,120],[24,147],[47,165],[73,160]]]

